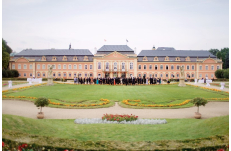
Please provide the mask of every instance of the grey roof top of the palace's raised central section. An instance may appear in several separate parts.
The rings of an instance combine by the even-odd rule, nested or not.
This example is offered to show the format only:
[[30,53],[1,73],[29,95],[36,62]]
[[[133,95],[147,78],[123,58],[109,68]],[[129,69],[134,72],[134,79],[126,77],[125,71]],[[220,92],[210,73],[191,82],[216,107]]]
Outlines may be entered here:
[[133,51],[130,47],[128,47],[127,45],[103,45],[98,52],[100,51]]

